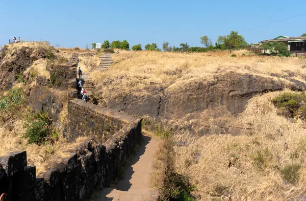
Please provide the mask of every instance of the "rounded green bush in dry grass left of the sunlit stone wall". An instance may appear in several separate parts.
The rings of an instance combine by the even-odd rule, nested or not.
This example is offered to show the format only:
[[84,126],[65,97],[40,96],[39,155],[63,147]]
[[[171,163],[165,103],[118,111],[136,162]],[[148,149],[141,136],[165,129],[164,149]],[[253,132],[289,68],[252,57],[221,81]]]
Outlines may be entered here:
[[26,125],[25,128],[27,130],[25,131],[24,138],[28,138],[30,144],[41,144],[49,134],[47,123],[42,120],[36,120]]

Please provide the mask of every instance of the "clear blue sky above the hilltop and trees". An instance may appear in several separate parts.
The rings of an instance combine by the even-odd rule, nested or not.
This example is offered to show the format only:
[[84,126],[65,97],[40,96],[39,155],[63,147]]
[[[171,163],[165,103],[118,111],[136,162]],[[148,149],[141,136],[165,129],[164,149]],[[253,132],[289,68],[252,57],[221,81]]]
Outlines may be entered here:
[[171,46],[188,42],[201,46],[200,37],[213,42],[219,35],[238,31],[248,43],[278,35],[306,33],[306,1],[283,0],[0,0],[0,45],[13,36],[48,40],[60,47],[82,47],[108,39],[126,39],[130,47],[163,41]]

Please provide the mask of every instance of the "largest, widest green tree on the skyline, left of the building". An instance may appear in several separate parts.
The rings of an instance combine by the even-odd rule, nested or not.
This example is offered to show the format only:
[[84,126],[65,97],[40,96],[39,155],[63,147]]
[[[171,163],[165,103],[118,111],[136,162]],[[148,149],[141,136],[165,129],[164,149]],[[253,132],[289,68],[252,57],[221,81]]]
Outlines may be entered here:
[[227,36],[218,36],[217,43],[227,49],[242,48],[248,45],[244,37],[237,31],[231,31]]

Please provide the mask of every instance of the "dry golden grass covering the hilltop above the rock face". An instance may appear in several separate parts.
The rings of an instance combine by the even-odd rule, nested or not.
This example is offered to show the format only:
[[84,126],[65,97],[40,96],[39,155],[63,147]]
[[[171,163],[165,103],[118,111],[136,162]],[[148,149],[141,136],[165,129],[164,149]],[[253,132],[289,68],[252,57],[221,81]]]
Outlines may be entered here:
[[[279,75],[285,81],[286,75],[295,73],[297,79],[306,75],[304,59],[279,58],[266,56],[242,56],[245,51],[217,51],[207,53],[165,53],[165,52],[129,52],[113,54],[114,63],[107,71],[94,72],[91,79],[99,85],[102,97],[108,102],[110,97],[133,93],[135,96],[146,94],[145,87],[158,85],[166,90],[179,90],[184,83],[199,79],[210,80],[217,74],[229,72],[249,73],[272,77]],[[120,78],[120,79],[119,79]],[[101,83],[112,79],[112,85]]]

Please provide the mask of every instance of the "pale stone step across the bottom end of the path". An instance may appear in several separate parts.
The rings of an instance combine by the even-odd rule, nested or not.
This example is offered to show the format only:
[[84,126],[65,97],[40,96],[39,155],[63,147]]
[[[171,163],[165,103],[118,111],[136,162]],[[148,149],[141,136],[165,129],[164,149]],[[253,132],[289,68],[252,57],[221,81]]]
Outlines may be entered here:
[[129,191],[120,191],[112,188],[103,188],[98,191],[94,201],[154,201],[158,199],[158,191],[129,189]]

